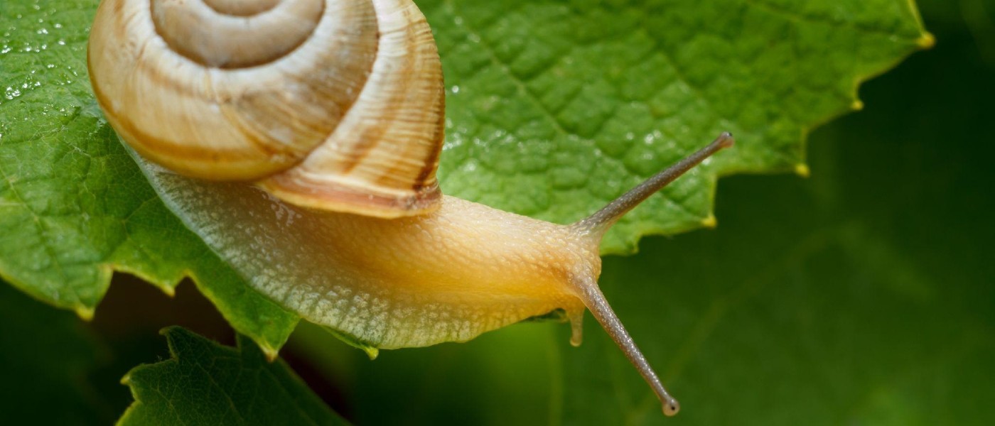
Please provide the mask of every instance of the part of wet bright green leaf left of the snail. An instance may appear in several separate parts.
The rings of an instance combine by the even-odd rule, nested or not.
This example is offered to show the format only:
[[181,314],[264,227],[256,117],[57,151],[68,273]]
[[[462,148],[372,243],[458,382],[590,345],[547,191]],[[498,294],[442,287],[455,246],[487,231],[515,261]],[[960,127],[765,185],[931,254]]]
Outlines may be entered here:
[[167,294],[191,276],[275,355],[298,316],[245,285],[165,209],[102,119],[86,65],[97,3],[0,6],[0,276],[83,318],[113,271]]

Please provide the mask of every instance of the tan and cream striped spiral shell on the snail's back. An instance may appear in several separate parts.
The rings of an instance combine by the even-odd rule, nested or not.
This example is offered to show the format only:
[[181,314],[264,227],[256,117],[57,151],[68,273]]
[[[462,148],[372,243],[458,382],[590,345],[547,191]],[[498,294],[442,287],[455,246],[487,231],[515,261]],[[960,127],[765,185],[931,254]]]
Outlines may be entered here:
[[438,207],[442,67],[411,0],[103,0],[89,65],[114,130],[179,174],[321,210]]

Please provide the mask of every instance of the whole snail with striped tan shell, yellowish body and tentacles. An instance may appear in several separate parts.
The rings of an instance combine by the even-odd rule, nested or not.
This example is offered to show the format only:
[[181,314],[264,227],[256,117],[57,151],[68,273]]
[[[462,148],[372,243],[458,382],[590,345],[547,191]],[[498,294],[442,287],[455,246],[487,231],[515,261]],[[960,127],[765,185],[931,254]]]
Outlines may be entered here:
[[599,245],[728,133],[563,225],[442,195],[442,67],[411,0],[103,0],[88,64],[167,206],[302,318],[393,349],[563,312],[576,346],[590,310],[677,413],[598,287]]

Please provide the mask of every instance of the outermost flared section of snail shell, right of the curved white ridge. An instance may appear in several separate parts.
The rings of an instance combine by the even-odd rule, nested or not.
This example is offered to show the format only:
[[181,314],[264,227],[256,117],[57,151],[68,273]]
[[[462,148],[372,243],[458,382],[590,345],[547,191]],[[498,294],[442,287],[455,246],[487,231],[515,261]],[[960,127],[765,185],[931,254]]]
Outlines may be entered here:
[[[435,170],[444,135],[442,64],[425,17],[410,0],[378,0],[377,57],[356,102],[328,138],[294,168],[260,184],[300,206],[326,210],[337,203],[324,185],[390,198],[364,212],[380,217],[428,210],[438,191]],[[316,193],[315,193],[316,191]],[[299,192],[299,194],[294,194]],[[317,195],[315,195],[317,194]],[[307,200],[316,197],[315,200]],[[345,203],[348,205],[348,203]],[[412,212],[375,212],[396,208]]]

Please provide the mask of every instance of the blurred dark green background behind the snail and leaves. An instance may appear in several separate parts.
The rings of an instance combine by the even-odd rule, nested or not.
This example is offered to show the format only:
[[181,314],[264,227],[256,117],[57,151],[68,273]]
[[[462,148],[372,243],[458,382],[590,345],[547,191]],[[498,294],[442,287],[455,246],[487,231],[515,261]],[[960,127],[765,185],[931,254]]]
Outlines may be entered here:
[[[605,259],[678,417],[590,318],[578,349],[525,323],[370,361],[301,326],[282,355],[364,425],[995,424],[995,2],[919,6],[936,47],[811,134],[811,178],[724,178],[716,229]],[[169,325],[233,342],[189,283],[168,299],[118,276],[89,324],[0,286],[0,415],[113,422]]]

